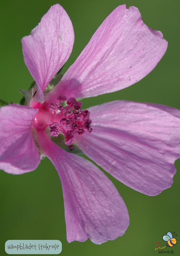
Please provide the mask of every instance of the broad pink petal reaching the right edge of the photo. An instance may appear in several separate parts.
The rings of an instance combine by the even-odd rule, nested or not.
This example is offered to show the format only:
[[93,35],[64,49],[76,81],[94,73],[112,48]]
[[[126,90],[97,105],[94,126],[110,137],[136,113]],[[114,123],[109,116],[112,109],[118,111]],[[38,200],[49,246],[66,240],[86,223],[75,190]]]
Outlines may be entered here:
[[77,146],[125,185],[147,195],[171,187],[180,157],[180,111],[171,107],[114,101],[88,109],[91,134]]

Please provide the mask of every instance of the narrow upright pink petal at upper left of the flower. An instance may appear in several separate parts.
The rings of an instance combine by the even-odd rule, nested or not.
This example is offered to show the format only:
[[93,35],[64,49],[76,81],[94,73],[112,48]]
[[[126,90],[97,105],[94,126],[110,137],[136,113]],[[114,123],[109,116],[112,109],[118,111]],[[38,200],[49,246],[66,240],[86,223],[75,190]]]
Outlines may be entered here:
[[36,101],[43,101],[46,86],[68,60],[73,44],[72,22],[59,4],[51,6],[31,34],[22,38],[24,62],[38,85]]

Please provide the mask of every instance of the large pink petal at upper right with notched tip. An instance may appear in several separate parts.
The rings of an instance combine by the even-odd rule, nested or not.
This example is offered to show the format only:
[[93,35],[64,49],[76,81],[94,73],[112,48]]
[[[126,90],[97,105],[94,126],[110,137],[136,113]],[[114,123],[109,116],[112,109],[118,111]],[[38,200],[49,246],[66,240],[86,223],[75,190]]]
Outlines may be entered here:
[[157,65],[167,46],[160,31],[143,23],[136,7],[120,5],[51,92],[51,101],[60,93],[86,98],[128,87]]

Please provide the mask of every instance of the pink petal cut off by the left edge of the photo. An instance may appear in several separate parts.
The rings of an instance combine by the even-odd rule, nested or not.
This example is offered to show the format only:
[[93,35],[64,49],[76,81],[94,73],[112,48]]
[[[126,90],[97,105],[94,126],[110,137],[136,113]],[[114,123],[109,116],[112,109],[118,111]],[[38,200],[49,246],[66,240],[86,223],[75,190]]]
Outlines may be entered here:
[[0,169],[12,174],[33,171],[40,155],[32,137],[32,120],[38,110],[19,104],[0,108]]

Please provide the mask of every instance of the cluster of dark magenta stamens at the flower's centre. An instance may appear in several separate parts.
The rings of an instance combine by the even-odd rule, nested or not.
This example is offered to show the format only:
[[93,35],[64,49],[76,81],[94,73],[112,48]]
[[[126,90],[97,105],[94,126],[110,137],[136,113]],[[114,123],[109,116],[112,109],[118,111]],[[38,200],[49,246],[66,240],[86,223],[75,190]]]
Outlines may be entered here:
[[[65,135],[66,145],[72,145],[75,141],[75,134],[82,135],[84,132],[92,132],[90,112],[88,110],[81,110],[82,103],[75,98],[67,100],[66,96],[60,94],[57,99],[59,105],[51,103],[49,110],[55,115],[56,122],[49,125],[50,135],[57,137],[60,132]],[[67,106],[61,105],[62,102],[67,101]]]

